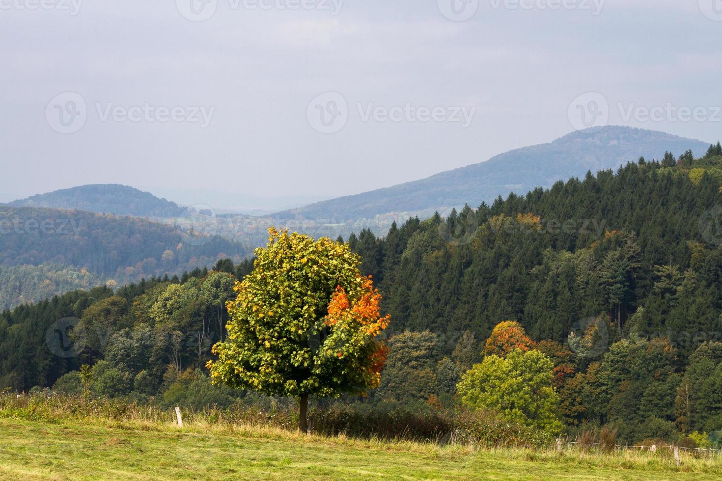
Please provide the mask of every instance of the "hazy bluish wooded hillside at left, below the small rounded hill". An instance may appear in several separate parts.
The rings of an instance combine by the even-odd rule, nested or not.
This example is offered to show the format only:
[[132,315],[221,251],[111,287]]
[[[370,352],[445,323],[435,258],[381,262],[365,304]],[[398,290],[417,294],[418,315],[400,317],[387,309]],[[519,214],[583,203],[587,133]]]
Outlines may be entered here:
[[[247,251],[180,227],[87,211],[0,206],[0,307],[79,287],[181,274]],[[190,241],[190,242],[188,242]]]

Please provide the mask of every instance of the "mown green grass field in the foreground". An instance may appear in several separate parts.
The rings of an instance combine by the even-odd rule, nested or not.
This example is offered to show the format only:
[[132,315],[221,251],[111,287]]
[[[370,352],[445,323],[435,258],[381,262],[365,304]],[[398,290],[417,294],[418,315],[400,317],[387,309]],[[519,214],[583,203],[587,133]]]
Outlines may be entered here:
[[722,460],[630,451],[477,450],[301,436],[273,428],[0,418],[0,478],[27,479],[722,479]]

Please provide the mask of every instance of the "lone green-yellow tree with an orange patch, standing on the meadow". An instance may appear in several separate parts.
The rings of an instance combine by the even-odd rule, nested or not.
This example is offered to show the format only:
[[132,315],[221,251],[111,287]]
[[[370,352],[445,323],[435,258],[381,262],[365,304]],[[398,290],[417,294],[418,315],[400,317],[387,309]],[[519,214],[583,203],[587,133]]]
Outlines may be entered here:
[[297,397],[308,431],[308,397],[339,397],[378,387],[388,326],[380,294],[361,276],[360,257],[328,238],[269,229],[253,271],[227,304],[228,337],[208,367],[215,383],[269,396]]

